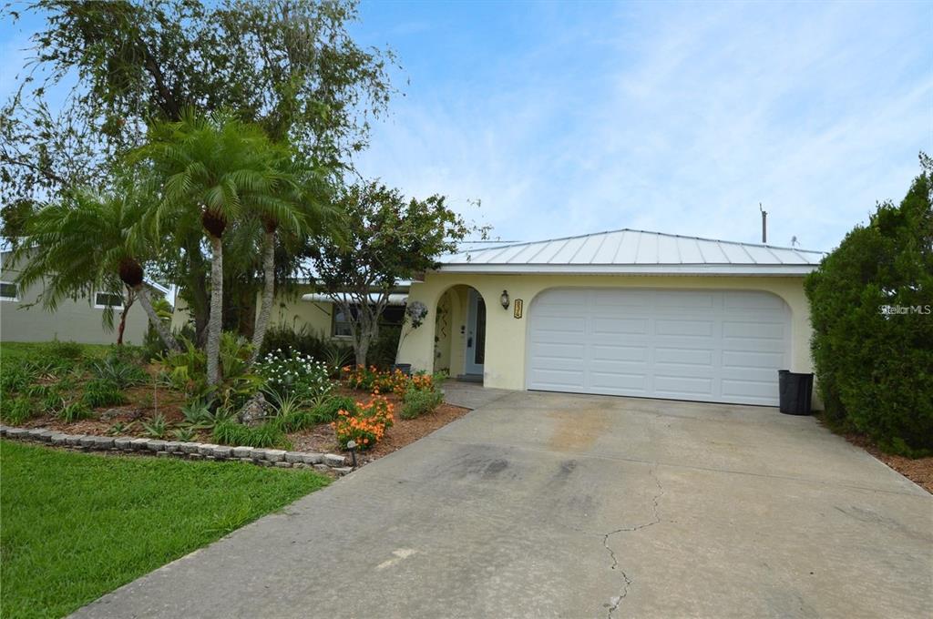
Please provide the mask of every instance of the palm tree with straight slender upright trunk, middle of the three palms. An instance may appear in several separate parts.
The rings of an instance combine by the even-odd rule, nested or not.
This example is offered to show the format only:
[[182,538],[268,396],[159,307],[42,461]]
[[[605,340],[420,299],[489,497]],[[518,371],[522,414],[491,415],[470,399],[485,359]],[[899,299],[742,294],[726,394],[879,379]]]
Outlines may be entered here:
[[179,122],[154,125],[147,144],[133,156],[151,164],[160,185],[161,201],[152,213],[156,235],[169,222],[190,222],[192,213],[197,213],[210,245],[206,353],[207,379],[212,385],[221,378],[224,232],[262,213],[278,222],[285,220],[289,227],[302,226],[300,213],[288,208],[285,199],[294,190],[294,179],[274,165],[281,157],[280,147],[257,126],[233,117],[197,117],[191,112]]

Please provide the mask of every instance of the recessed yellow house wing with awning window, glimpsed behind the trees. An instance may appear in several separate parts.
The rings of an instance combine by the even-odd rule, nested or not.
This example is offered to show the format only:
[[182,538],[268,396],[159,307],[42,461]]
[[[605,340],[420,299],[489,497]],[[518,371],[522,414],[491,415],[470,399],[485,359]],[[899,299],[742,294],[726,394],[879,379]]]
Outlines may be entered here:
[[[389,305],[383,310],[383,324],[401,324],[405,318],[405,302],[409,282],[401,282],[389,296]],[[315,286],[303,280],[294,294],[276,295],[272,305],[269,327],[287,326],[295,331],[304,329],[315,335],[334,340],[350,340],[350,323],[339,307],[325,293],[315,292]],[[260,299],[257,299],[257,307]],[[172,314],[172,329],[178,330],[190,320],[188,306],[178,297]]]

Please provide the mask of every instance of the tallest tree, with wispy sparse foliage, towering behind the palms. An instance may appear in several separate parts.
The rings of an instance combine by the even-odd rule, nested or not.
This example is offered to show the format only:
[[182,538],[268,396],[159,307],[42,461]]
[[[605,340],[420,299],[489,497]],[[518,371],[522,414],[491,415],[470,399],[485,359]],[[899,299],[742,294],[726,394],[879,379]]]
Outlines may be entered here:
[[[41,207],[70,187],[107,189],[146,124],[179,121],[188,106],[258,122],[313,167],[338,172],[367,144],[369,120],[392,92],[391,53],[362,48],[348,33],[355,0],[36,0],[26,10],[46,24],[33,37],[21,88],[0,109],[5,204],[31,199]],[[63,106],[49,104],[49,92],[72,76],[77,85]],[[183,249],[160,256],[160,268],[182,284],[202,335],[210,261],[198,234],[172,245]],[[230,298],[255,302],[263,262],[229,257],[227,282],[240,289]],[[276,259],[285,284],[296,257]]]

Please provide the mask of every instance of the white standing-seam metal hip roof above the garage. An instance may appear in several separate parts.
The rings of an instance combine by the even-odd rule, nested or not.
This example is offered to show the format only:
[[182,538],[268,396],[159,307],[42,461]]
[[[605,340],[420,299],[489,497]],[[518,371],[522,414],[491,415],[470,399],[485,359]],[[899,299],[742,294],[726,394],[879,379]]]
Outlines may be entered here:
[[623,228],[453,254],[439,271],[495,273],[805,274],[824,253]]

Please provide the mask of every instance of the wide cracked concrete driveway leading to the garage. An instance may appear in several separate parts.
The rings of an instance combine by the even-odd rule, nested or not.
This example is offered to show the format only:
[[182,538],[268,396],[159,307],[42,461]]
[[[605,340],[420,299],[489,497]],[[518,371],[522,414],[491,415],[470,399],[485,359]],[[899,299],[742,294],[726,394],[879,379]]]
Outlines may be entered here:
[[919,617],[933,497],[774,408],[477,410],[80,617]]

